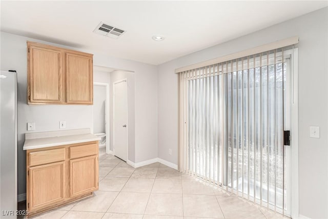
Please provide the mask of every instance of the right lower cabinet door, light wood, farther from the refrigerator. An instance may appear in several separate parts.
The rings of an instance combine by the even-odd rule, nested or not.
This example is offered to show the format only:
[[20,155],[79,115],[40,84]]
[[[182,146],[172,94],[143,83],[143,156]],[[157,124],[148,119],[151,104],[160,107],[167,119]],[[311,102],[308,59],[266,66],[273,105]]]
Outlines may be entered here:
[[98,189],[98,156],[70,160],[70,196]]

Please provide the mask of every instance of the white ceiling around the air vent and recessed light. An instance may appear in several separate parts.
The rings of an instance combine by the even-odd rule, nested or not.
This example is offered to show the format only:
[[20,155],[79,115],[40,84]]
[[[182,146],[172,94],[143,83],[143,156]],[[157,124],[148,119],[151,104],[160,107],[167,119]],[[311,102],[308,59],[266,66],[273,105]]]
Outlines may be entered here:
[[[327,1],[1,1],[1,30],[158,65],[323,8]],[[103,21],[126,30],[93,33]],[[154,34],[165,36],[155,42]]]

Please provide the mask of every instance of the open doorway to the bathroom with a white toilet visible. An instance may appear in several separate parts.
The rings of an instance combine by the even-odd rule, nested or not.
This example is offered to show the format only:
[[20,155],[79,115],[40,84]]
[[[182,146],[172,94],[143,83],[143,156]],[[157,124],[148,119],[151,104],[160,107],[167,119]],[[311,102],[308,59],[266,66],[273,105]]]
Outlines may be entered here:
[[93,133],[101,138],[99,155],[110,152],[109,146],[109,84],[93,84]]

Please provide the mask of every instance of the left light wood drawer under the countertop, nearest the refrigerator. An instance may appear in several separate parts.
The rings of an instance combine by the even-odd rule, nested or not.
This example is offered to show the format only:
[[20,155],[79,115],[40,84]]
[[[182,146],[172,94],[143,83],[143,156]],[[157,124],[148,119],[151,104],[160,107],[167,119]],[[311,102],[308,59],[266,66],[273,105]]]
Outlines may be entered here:
[[30,167],[65,161],[65,148],[30,153]]

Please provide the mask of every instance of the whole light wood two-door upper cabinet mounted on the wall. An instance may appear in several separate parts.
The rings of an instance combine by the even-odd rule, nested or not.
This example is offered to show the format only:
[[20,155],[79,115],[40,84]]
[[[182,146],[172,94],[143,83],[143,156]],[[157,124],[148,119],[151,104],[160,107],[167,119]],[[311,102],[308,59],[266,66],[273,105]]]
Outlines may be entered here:
[[93,54],[27,42],[28,104],[93,104]]

